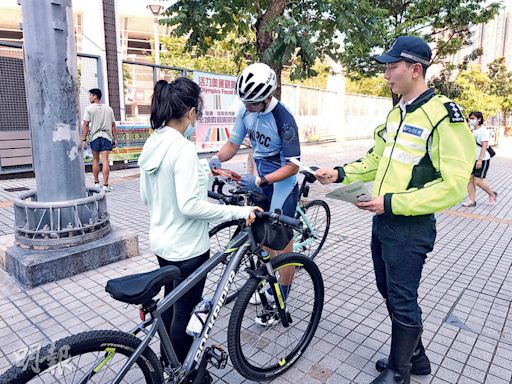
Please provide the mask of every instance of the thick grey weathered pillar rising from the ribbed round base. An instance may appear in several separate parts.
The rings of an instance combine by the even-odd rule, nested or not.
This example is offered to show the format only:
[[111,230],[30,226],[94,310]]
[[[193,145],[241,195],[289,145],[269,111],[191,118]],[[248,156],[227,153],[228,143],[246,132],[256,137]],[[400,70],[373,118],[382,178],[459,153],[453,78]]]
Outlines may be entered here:
[[20,0],[38,201],[85,196],[71,0]]

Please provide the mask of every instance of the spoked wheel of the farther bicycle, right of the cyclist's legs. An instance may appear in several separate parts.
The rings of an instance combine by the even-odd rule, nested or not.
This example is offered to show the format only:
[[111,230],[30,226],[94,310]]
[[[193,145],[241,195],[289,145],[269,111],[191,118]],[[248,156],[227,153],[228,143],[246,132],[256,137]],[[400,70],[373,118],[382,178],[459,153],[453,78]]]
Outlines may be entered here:
[[[307,223],[298,212],[295,214],[295,218],[302,221],[302,226],[307,233],[298,234],[297,238],[294,238],[293,250],[314,259],[327,239],[331,226],[331,210],[323,200],[312,200],[302,210],[307,218]],[[314,236],[311,230],[314,231]]]

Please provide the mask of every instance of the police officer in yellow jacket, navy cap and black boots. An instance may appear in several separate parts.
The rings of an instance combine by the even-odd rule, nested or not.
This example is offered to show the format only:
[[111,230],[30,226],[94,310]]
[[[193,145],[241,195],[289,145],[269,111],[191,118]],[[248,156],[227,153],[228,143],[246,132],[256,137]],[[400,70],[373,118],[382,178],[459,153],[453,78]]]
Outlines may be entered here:
[[431,57],[415,36],[399,37],[374,57],[386,65],[384,78],[400,102],[375,129],[375,145],[362,159],[316,173],[322,184],[374,180],[373,200],[355,205],[375,214],[373,266],[392,331],[389,358],[377,362],[382,373],[372,384],[408,384],[411,373],[430,373],[421,342],[421,272],[434,247],[434,213],[464,198],[476,151],[459,107],[427,88]]

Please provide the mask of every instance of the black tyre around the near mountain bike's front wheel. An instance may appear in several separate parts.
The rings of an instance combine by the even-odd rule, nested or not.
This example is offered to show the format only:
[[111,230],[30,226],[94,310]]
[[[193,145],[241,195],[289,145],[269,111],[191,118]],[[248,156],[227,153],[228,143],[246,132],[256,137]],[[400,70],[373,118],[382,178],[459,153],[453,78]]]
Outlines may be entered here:
[[[277,360],[275,364],[268,368],[262,368],[261,366],[251,364],[248,361],[247,356],[244,355],[241,340],[242,338],[247,339],[247,337],[246,335],[242,336],[241,328],[245,311],[249,305],[252,305],[249,303],[249,300],[251,299],[251,296],[254,294],[254,292],[258,289],[258,287],[263,284],[264,280],[259,280],[256,277],[251,277],[247,281],[247,283],[240,291],[240,294],[238,295],[238,298],[231,312],[231,316],[229,318],[228,350],[231,362],[233,363],[233,366],[238,371],[238,373],[240,373],[246,379],[253,381],[271,380],[281,375],[295,363],[295,361],[304,353],[306,348],[309,346],[309,343],[313,339],[313,336],[318,327],[318,323],[320,322],[323,310],[324,284],[322,280],[322,275],[320,273],[320,270],[318,269],[318,266],[310,258],[300,255],[298,253],[285,253],[272,259],[270,263],[274,270],[279,270],[280,268],[288,266],[295,266],[300,267],[300,273],[307,273],[311,279],[311,283],[313,286],[314,303],[312,305],[309,324],[307,325],[307,327],[305,327],[304,331],[300,331],[303,332],[303,335],[300,338],[298,345],[295,348],[293,348],[292,352],[290,352],[285,359],[282,356],[280,356],[279,358],[276,357]],[[264,270],[264,268],[261,268],[259,271]],[[295,275],[294,280],[296,278],[297,274]],[[301,295],[301,288],[297,289],[298,295]],[[287,299],[287,312],[288,309],[289,308]],[[293,316],[294,314],[291,314],[291,317]],[[299,317],[295,318],[295,320],[297,319],[301,319],[300,315]],[[279,323],[278,326],[281,326],[281,324]],[[299,329],[302,328],[299,327]],[[265,330],[267,330],[267,328],[265,328]],[[270,332],[273,331],[274,329],[270,329]],[[253,333],[253,335],[256,335],[256,333]],[[257,343],[259,343],[259,341]],[[273,349],[270,348],[270,350]],[[258,360],[258,357],[255,357],[255,359]]]

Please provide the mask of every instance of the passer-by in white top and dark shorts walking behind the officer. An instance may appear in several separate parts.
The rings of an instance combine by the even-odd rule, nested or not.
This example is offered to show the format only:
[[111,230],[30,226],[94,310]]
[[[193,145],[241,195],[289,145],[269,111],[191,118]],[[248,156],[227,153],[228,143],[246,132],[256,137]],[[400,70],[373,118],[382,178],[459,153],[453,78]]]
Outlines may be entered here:
[[491,162],[491,156],[487,152],[489,145],[489,134],[484,124],[484,115],[482,112],[471,112],[469,114],[469,126],[473,130],[475,136],[476,146],[476,162],[473,168],[473,173],[468,183],[468,200],[462,203],[464,207],[475,207],[476,206],[476,187],[481,188],[489,195],[489,204],[496,204],[497,193],[484,181],[487,171],[489,170],[489,164]]

